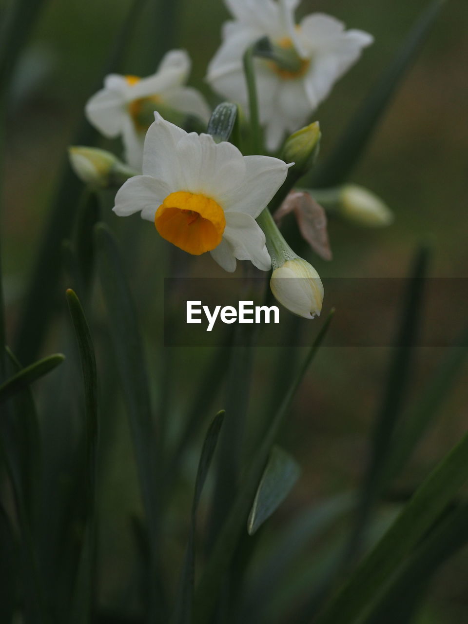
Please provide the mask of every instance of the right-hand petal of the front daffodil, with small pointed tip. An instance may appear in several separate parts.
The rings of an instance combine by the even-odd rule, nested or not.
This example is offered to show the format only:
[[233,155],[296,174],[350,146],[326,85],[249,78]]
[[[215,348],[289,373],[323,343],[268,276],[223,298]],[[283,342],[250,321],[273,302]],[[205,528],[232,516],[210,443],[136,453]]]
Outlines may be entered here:
[[220,197],[220,201],[227,212],[245,213],[256,218],[286,180],[288,165],[269,156],[244,156],[243,160],[243,182],[225,197]]

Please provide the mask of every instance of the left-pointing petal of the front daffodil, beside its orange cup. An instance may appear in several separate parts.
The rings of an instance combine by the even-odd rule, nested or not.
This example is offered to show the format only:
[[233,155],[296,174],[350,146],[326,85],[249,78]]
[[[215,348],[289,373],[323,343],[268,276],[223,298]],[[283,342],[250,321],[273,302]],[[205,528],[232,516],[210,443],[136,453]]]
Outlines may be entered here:
[[129,178],[115,195],[115,206],[112,208],[119,217],[127,217],[141,212],[142,218],[154,221],[155,213],[169,194],[164,182],[155,180],[149,175],[135,175]]

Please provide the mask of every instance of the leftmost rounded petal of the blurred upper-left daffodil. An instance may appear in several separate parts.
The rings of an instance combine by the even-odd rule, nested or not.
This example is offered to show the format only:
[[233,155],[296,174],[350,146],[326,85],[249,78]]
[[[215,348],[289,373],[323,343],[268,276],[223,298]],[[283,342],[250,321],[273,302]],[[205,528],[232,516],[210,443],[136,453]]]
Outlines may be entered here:
[[91,125],[105,137],[117,137],[127,116],[125,99],[122,92],[112,89],[101,89],[87,101],[85,115]]

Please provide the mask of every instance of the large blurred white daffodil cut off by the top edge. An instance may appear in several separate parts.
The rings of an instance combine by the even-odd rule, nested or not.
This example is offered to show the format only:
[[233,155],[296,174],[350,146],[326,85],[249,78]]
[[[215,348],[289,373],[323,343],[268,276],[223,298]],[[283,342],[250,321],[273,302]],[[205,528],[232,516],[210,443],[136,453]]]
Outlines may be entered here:
[[313,13],[295,24],[299,0],[225,0],[235,17],[223,27],[223,42],[208,66],[207,80],[224,97],[247,107],[242,57],[248,46],[267,36],[295,59],[294,69],[255,59],[260,121],[274,150],[285,132],[305,125],[334,83],[356,62],[373,37],[344,30],[334,17]]

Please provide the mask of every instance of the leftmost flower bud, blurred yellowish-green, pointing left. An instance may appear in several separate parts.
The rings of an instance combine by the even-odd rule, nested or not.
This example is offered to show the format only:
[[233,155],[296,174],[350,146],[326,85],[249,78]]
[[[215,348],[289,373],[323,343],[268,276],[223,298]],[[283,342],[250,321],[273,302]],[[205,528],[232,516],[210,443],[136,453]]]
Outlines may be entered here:
[[72,169],[90,187],[120,186],[125,180],[138,174],[114,154],[95,147],[72,146],[69,147],[68,154]]

